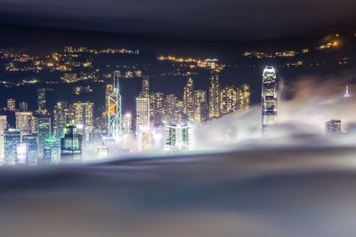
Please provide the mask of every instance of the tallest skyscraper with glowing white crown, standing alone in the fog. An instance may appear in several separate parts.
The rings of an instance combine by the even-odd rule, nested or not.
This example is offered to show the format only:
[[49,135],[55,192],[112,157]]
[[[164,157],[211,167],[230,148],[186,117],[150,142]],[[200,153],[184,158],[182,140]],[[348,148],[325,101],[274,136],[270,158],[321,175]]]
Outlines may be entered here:
[[277,124],[278,81],[273,67],[267,66],[263,70],[262,83],[262,131],[268,133]]

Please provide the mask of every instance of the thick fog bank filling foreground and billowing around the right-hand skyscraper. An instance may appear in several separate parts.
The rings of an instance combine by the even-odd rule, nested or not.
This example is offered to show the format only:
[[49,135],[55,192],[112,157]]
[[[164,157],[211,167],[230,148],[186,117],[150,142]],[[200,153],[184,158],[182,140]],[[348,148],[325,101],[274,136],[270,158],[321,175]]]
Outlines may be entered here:
[[[344,85],[298,80],[269,138],[255,106],[197,127],[198,154],[1,170],[1,236],[352,236],[356,101]],[[325,136],[330,119],[347,132]]]

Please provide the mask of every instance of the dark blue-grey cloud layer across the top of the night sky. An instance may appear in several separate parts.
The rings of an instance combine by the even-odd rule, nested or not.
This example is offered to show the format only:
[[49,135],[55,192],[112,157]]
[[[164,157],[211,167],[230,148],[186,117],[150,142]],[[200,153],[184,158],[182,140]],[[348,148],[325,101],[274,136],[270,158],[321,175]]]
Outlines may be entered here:
[[0,0],[0,22],[206,38],[303,36],[347,28],[352,0]]

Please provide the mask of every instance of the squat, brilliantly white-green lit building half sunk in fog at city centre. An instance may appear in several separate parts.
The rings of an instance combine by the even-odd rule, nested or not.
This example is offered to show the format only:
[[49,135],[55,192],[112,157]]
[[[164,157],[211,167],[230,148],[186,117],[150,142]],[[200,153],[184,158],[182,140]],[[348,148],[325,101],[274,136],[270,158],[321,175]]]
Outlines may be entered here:
[[166,151],[190,151],[193,148],[193,133],[190,124],[166,125]]

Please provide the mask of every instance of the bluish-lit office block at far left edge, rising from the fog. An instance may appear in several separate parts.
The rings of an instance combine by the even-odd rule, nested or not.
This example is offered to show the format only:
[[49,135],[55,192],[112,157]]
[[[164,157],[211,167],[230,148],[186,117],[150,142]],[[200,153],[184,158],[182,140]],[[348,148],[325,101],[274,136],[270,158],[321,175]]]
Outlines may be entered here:
[[21,142],[20,130],[9,129],[4,131],[4,164],[15,164],[15,149]]

